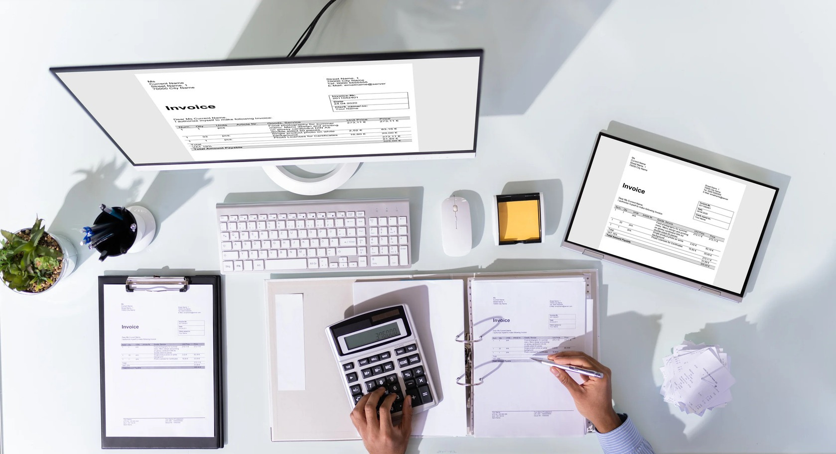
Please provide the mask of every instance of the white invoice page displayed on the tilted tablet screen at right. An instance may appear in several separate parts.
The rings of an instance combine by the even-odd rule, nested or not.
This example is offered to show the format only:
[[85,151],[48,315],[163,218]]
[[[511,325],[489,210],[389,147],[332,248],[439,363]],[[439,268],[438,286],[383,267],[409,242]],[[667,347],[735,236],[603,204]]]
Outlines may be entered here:
[[599,250],[714,282],[746,186],[630,150]]

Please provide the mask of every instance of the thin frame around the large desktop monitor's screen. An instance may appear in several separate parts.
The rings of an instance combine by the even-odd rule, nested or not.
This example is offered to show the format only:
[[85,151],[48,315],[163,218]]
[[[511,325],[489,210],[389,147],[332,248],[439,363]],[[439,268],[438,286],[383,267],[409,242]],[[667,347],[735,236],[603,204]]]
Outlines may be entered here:
[[[482,101],[482,64],[484,62],[483,49],[454,49],[454,50],[439,50],[439,51],[418,51],[418,52],[394,52],[394,53],[350,53],[339,55],[312,55],[292,58],[236,58],[229,60],[206,60],[196,62],[168,62],[168,63],[126,63],[126,64],[109,64],[109,65],[92,65],[92,66],[65,66],[49,68],[55,78],[58,79],[61,86],[67,90],[70,96],[73,97],[76,103],[84,109],[90,119],[94,121],[96,126],[101,129],[105,136],[110,139],[116,149],[128,159],[128,162],[136,169],[142,170],[161,170],[161,169],[212,169],[219,167],[248,167],[261,165],[298,165],[298,164],[340,164],[352,162],[370,162],[370,161],[400,161],[400,160],[419,160],[419,159],[456,159],[456,158],[475,158],[477,136],[479,131],[479,104]],[[462,57],[478,57],[479,70],[477,75],[477,93],[476,93],[476,111],[473,124],[473,148],[469,150],[446,150],[446,151],[426,151],[415,152],[409,154],[391,153],[391,154],[350,154],[350,155],[334,155],[334,156],[310,156],[310,157],[295,157],[291,159],[228,159],[228,160],[209,160],[209,161],[183,161],[183,162],[167,162],[167,163],[144,163],[137,164],[130,156],[125,153],[120,144],[110,136],[104,127],[99,124],[99,121],[90,113],[89,109],[84,106],[75,93],[67,86],[66,83],[59,77],[59,73],[79,73],[88,71],[130,71],[133,69],[176,69],[176,68],[212,68],[212,67],[232,67],[232,66],[255,66],[265,64],[299,64],[299,63],[339,63],[339,62],[370,62],[381,60],[407,60],[419,58],[462,58]]]

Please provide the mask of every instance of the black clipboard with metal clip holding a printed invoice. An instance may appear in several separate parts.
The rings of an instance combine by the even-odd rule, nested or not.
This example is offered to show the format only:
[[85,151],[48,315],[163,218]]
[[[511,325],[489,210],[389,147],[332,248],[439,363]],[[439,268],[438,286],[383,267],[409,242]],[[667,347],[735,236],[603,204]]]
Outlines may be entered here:
[[[218,275],[99,276],[103,449],[223,447],[221,298]],[[115,308],[117,299],[120,306]],[[148,317],[145,313],[151,310],[167,315]],[[115,328],[114,320],[144,321]],[[168,340],[155,340],[152,334],[160,332]],[[110,383],[109,374],[114,380]],[[156,414],[153,404],[147,404],[154,396],[183,393],[183,387],[166,390],[161,385],[175,377],[189,383],[188,392],[194,393],[183,400],[199,403],[182,406],[184,414]],[[126,388],[126,382],[135,382],[135,389]],[[130,402],[135,402],[134,409],[125,417]]]

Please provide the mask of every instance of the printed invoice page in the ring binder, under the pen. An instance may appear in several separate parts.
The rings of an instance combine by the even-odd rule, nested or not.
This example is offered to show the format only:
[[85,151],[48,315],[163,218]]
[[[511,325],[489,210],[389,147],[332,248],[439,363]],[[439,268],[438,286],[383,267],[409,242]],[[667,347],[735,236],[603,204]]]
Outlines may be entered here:
[[474,388],[474,435],[584,435],[586,419],[568,391],[530,359],[593,354],[584,280],[473,280],[471,293],[473,334],[482,336],[473,345],[473,376],[483,380]]

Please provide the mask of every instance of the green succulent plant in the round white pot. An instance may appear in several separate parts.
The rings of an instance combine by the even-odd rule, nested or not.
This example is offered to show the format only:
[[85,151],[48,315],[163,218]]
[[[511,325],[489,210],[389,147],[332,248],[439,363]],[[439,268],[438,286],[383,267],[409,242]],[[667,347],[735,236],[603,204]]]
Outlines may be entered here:
[[57,241],[49,234],[43,236],[46,229],[42,222],[36,219],[32,229],[17,234],[0,230],[4,239],[0,273],[10,289],[35,293],[48,289],[58,279],[64,255]]

